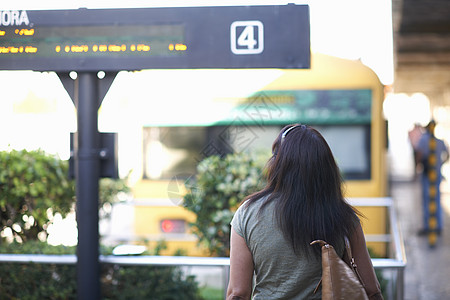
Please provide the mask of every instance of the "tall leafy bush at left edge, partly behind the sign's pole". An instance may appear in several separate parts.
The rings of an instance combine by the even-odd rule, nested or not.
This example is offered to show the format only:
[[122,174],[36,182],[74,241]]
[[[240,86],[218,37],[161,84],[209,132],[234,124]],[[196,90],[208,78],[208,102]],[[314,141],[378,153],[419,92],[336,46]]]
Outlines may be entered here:
[[[0,233],[9,229],[17,241],[45,240],[54,216],[65,217],[75,204],[68,169],[68,161],[40,150],[0,151]],[[101,179],[100,207],[128,190],[124,180]]]

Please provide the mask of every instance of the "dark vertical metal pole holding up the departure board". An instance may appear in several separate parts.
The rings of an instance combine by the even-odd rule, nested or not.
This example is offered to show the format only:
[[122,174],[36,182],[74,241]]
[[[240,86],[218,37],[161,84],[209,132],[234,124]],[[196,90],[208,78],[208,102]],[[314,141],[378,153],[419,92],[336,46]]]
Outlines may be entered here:
[[77,294],[80,300],[100,299],[99,263],[99,89],[96,73],[78,74],[78,132],[75,139],[75,176],[77,196]]

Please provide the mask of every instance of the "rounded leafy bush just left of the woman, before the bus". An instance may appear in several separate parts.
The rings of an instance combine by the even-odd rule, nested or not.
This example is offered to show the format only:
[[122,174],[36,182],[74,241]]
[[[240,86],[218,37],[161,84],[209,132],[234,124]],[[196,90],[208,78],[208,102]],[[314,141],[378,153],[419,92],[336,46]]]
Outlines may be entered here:
[[210,156],[197,166],[195,180],[186,184],[184,206],[194,212],[194,234],[210,255],[229,256],[230,221],[238,204],[264,184],[265,161],[248,153]]

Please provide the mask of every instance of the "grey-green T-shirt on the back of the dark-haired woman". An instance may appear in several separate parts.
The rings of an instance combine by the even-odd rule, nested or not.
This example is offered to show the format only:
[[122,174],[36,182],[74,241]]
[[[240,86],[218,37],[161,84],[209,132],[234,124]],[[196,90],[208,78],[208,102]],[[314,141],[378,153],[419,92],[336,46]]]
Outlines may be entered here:
[[276,200],[260,211],[264,200],[242,204],[231,223],[253,256],[257,274],[253,299],[320,299],[320,292],[313,294],[321,278],[320,257],[294,253],[277,226]]

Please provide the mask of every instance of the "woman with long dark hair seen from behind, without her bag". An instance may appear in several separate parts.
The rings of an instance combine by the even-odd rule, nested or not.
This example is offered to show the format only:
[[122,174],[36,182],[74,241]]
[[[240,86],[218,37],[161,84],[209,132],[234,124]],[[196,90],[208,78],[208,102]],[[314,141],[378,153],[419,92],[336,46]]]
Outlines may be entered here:
[[[358,212],[325,139],[300,124],[282,129],[267,163],[267,185],[246,197],[231,222],[227,299],[320,299],[320,247],[344,254],[348,237],[369,299],[382,299]],[[254,281],[253,281],[254,279]]]

